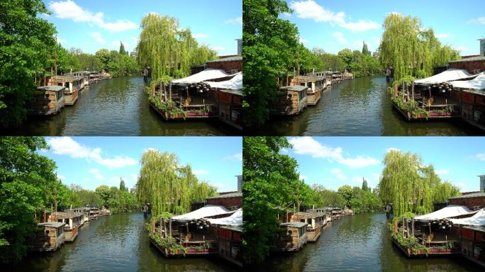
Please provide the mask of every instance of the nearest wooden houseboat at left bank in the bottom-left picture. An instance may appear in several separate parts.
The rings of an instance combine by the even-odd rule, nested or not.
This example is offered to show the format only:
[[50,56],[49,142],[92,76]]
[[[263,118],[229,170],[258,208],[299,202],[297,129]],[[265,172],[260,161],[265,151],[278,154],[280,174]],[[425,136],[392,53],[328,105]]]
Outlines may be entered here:
[[33,239],[32,251],[56,251],[65,242],[63,222],[39,223]]

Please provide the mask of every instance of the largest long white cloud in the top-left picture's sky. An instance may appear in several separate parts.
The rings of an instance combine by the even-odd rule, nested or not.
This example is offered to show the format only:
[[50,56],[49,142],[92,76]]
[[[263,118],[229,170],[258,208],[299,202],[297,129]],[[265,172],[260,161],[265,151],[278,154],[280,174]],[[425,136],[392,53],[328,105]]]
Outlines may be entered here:
[[106,23],[102,12],[93,13],[78,6],[74,1],[50,1],[49,9],[54,16],[61,19],[70,19],[74,22],[89,23],[113,32],[125,31],[138,28],[138,24],[128,20],[118,20],[115,23]]

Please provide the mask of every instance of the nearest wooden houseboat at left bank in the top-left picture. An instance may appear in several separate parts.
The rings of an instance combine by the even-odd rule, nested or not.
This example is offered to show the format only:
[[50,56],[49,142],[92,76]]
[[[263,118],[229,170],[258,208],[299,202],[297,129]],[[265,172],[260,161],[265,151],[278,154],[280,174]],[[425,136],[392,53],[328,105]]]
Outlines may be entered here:
[[55,115],[65,106],[64,86],[43,86],[38,88],[30,113],[33,115]]

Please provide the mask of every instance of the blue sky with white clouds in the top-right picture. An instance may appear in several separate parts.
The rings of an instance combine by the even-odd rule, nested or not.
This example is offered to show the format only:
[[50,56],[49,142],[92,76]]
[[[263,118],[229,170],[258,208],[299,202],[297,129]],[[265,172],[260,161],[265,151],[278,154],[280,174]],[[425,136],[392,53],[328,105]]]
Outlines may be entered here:
[[424,28],[433,28],[437,38],[462,55],[479,54],[479,38],[485,38],[485,1],[323,1],[287,0],[294,10],[282,14],[298,26],[300,38],[308,48],[321,47],[337,53],[343,48],[369,50],[379,47],[382,23],[387,14],[418,16]]

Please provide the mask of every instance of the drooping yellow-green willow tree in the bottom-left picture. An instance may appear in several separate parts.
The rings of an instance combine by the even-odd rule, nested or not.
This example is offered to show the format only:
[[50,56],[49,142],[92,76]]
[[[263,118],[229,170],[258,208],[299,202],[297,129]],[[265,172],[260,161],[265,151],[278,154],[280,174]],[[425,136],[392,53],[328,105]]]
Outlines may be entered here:
[[191,203],[213,196],[215,192],[198,191],[201,182],[192,173],[191,166],[181,166],[174,153],[150,149],[142,155],[140,163],[137,196],[151,203],[154,216],[163,212],[188,212]]

